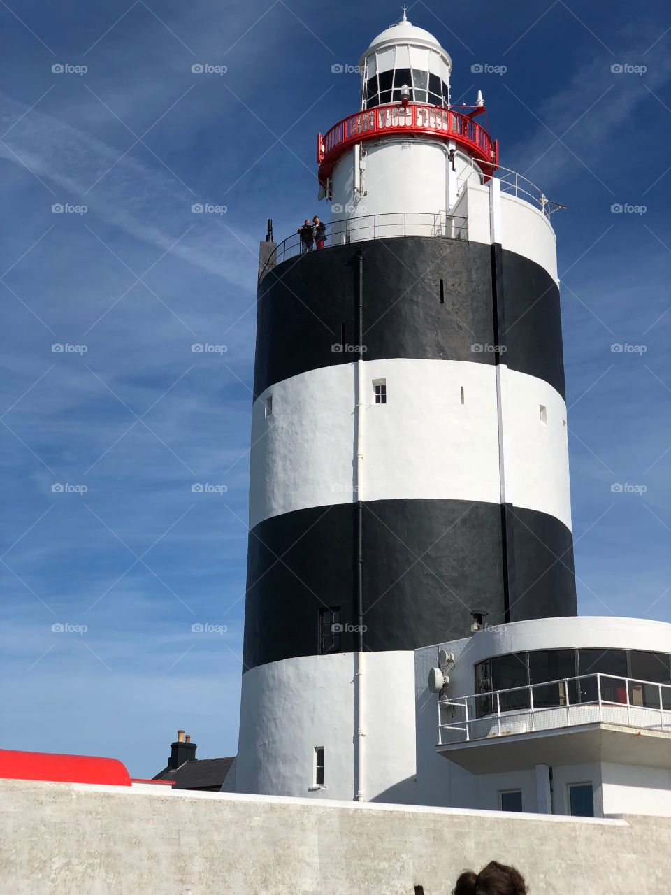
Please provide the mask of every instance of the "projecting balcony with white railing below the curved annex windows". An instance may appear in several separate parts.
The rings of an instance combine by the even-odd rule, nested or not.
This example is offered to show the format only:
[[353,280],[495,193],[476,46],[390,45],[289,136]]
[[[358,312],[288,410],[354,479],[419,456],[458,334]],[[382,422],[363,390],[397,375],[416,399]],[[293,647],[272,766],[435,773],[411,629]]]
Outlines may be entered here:
[[590,762],[671,770],[671,686],[605,674],[438,701],[438,754],[471,773]]

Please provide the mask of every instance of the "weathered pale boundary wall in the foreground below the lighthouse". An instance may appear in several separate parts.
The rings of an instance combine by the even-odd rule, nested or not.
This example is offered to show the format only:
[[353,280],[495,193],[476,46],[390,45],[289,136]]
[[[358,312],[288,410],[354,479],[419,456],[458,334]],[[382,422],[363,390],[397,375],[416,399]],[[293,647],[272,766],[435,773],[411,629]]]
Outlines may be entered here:
[[0,781],[0,874],[13,895],[439,895],[492,859],[517,865],[534,893],[661,895],[669,836],[665,818]]

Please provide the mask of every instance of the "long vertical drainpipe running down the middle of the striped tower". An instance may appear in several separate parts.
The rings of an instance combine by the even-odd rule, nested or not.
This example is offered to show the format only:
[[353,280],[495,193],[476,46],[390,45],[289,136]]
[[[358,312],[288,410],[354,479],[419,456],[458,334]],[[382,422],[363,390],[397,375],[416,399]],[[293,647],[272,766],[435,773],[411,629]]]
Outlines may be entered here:
[[356,318],[358,338],[358,359],[356,362],[356,674],[354,685],[354,704],[356,706],[356,800],[366,800],[363,774],[363,742],[364,729],[364,660],[363,660],[363,250],[356,253]]

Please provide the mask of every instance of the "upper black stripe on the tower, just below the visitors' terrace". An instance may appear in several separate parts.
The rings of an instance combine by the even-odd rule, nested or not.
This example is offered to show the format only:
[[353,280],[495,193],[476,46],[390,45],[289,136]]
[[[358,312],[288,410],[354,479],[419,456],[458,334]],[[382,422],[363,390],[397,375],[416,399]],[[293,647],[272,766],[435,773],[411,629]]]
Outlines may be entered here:
[[[279,264],[260,283],[254,393],[356,354],[355,245],[332,246]],[[491,246],[407,237],[366,243],[367,361],[439,359],[493,364]],[[565,396],[559,291],[534,261],[501,251],[505,363]],[[442,281],[442,282],[441,282]],[[441,302],[441,294],[443,302]],[[473,348],[482,346],[482,350]],[[335,346],[335,348],[334,348]]]

